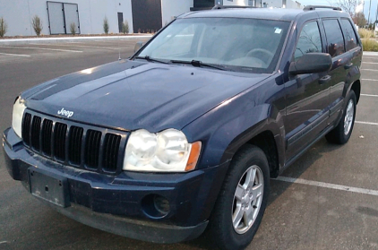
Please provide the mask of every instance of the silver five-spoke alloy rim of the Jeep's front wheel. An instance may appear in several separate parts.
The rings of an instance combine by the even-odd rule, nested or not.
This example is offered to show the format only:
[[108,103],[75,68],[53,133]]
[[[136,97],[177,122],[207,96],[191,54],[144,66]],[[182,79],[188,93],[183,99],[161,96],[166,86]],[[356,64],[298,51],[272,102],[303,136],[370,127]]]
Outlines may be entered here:
[[240,178],[234,194],[232,224],[236,233],[244,234],[252,227],[260,211],[263,194],[262,170],[253,165]]

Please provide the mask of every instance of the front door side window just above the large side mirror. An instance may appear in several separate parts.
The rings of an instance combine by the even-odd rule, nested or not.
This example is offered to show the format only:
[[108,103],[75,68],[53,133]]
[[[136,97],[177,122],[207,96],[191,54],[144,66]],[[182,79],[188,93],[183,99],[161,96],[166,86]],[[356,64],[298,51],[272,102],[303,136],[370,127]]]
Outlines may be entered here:
[[322,52],[322,39],[318,22],[307,22],[299,35],[294,59],[306,53]]

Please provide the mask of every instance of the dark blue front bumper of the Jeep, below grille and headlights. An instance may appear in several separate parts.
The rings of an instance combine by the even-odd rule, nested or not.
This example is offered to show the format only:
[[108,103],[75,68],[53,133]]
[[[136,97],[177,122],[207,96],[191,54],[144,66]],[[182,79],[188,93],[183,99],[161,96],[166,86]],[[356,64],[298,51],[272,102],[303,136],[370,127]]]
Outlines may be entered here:
[[[64,180],[64,205],[47,202],[57,211],[93,228],[159,243],[202,234],[228,167],[226,163],[189,173],[123,172],[110,176],[46,159],[26,149],[12,128],[4,131],[3,147],[9,174],[32,194],[30,172]],[[168,214],[155,216],[150,212],[146,200],[151,195],[168,200]]]

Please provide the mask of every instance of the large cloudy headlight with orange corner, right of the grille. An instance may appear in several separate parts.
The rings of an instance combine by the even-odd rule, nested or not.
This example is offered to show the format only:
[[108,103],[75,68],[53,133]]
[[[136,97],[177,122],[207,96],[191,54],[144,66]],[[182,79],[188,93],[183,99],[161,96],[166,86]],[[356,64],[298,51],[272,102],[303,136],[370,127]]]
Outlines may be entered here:
[[168,129],[151,134],[141,129],[133,132],[126,145],[124,170],[185,172],[195,168],[202,143],[188,143],[185,134]]

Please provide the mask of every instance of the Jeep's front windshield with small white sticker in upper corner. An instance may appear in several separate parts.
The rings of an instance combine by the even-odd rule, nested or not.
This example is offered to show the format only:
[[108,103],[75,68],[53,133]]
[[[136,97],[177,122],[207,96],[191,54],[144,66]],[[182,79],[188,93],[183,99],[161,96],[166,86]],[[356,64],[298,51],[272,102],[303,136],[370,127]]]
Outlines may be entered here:
[[169,63],[200,62],[226,70],[271,73],[289,22],[246,18],[187,18],[172,22],[139,57]]

